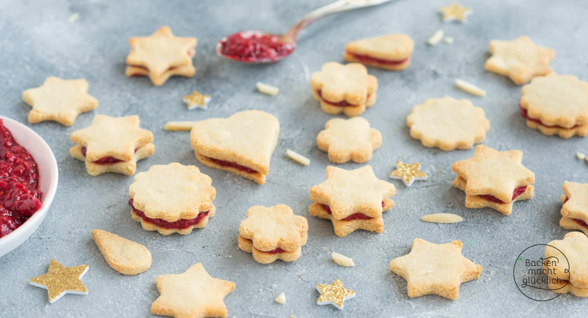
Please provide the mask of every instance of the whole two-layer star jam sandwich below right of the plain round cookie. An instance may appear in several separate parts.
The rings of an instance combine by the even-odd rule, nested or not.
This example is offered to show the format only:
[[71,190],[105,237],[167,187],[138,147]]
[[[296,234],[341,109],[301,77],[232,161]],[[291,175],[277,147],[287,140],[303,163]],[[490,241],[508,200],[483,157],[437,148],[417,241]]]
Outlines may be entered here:
[[535,174],[522,165],[520,150],[497,151],[479,145],[472,158],[453,163],[453,186],[466,193],[466,207],[490,207],[504,215],[513,202],[533,198]]

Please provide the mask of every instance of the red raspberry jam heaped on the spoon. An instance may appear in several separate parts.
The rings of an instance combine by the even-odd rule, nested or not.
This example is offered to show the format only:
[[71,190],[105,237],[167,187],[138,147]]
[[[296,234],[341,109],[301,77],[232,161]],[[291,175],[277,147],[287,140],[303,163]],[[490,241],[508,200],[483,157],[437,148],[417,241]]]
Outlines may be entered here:
[[220,40],[219,46],[222,55],[239,62],[275,62],[290,55],[296,48],[294,43],[260,31],[231,34]]

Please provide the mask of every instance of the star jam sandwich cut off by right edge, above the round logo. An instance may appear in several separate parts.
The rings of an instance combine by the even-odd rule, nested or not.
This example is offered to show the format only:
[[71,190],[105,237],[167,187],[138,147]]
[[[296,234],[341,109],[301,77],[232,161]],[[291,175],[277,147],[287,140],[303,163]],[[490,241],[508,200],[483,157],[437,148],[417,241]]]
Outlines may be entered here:
[[562,219],[564,229],[581,230],[588,235],[588,183],[563,183]]

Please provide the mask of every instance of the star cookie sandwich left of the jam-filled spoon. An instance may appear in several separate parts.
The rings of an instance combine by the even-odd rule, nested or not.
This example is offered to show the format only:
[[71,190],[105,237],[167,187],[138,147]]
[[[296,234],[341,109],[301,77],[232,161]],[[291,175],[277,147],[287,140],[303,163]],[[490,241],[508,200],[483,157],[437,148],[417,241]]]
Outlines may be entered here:
[[157,86],[163,85],[172,75],[192,77],[197,42],[196,38],[174,36],[169,26],[162,26],[149,36],[131,38],[126,75],[149,75]]

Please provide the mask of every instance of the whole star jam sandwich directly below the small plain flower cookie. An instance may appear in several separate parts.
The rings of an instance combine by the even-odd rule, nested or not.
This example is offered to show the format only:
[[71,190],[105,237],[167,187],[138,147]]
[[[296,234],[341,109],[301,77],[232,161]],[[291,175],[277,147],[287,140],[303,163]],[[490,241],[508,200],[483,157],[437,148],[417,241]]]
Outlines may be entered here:
[[392,183],[376,178],[372,166],[345,170],[328,166],[327,180],[310,188],[309,213],[333,223],[343,237],[357,229],[382,233],[382,212],[394,206]]

